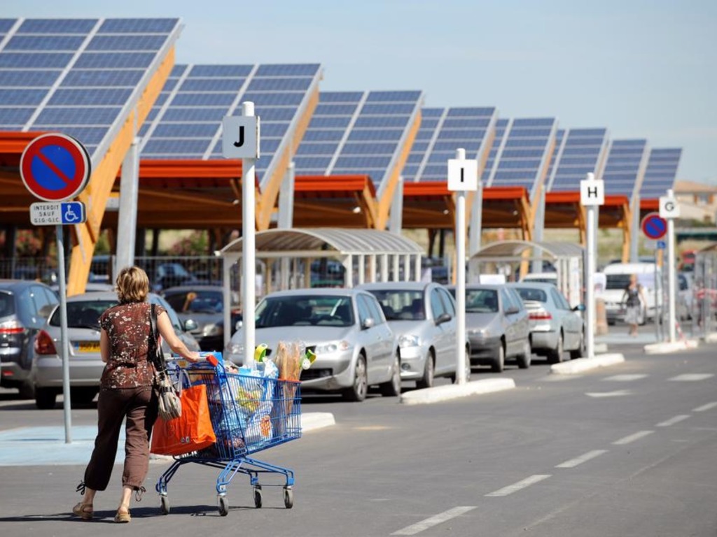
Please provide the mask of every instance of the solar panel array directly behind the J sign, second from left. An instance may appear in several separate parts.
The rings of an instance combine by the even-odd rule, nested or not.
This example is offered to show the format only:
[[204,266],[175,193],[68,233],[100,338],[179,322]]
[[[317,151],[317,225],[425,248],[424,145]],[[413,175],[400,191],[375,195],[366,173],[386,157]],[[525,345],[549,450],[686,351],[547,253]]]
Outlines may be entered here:
[[222,118],[252,101],[261,118],[262,175],[300,115],[320,64],[176,65],[142,128],[141,157],[222,158]]

